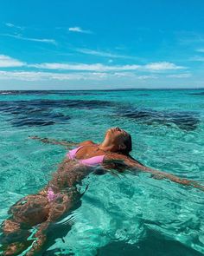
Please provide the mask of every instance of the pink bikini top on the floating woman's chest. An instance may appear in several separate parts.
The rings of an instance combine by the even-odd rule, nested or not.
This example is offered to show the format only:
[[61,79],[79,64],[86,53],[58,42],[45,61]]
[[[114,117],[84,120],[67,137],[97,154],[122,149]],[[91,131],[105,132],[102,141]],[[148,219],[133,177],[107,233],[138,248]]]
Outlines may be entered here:
[[[80,146],[79,148],[74,148],[74,149],[70,150],[67,154],[68,158],[72,159],[72,160],[75,159],[76,153],[78,150],[80,150],[80,148],[83,148],[83,146]],[[81,160],[79,160],[79,162],[86,166],[92,167],[92,166],[97,166],[97,165],[101,164],[104,161],[104,157],[105,157],[105,155],[97,155],[97,156],[92,156],[87,159],[81,159]]]

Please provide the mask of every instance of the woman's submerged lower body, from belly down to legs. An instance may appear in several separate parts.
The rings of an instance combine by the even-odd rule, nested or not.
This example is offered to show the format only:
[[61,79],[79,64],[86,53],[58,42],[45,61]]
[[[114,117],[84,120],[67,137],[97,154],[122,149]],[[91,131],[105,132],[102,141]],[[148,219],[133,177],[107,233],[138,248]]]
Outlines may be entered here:
[[[82,194],[76,185],[92,167],[86,167],[76,161],[66,159],[48,182],[37,194],[29,194],[10,207],[10,218],[2,224],[3,255],[16,255],[31,245],[26,255],[33,255],[44,244],[48,226],[59,220],[67,211],[80,203]],[[33,240],[28,241],[29,229],[37,225]]]

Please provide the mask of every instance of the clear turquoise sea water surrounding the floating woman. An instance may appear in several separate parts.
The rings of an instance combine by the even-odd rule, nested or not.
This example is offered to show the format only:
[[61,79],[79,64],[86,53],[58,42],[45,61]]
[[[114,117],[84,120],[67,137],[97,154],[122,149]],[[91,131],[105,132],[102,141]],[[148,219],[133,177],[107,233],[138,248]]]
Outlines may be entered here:
[[[100,142],[118,126],[131,133],[138,161],[203,182],[203,97],[204,90],[2,92],[0,221],[47,184],[66,154],[29,135]],[[87,184],[81,206],[52,226],[44,255],[203,255],[203,192],[148,174],[90,174],[82,189]]]

